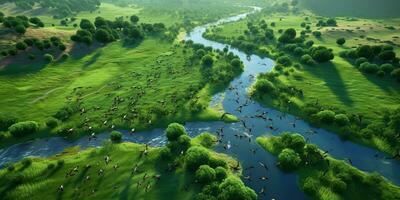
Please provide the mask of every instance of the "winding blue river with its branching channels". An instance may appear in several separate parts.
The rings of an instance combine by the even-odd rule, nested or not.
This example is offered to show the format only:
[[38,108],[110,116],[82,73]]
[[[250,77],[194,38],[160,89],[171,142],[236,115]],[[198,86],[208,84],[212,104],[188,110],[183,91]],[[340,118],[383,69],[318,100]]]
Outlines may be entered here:
[[[259,11],[254,8],[253,12]],[[311,143],[318,145],[323,150],[329,150],[329,153],[337,159],[351,159],[353,166],[367,172],[378,172],[384,177],[400,184],[400,161],[387,160],[384,153],[378,152],[369,147],[358,145],[349,141],[341,140],[336,134],[323,129],[314,128],[307,122],[304,122],[295,116],[291,116],[271,108],[265,108],[259,103],[251,100],[247,95],[247,89],[255,81],[255,77],[262,72],[271,71],[274,62],[268,58],[260,58],[256,55],[246,55],[238,49],[229,45],[213,42],[202,37],[207,27],[219,25],[227,22],[238,21],[250,13],[229,17],[219,20],[216,23],[207,24],[195,28],[186,40],[192,40],[195,43],[211,46],[214,49],[222,50],[228,47],[231,52],[239,56],[244,63],[244,72],[230,83],[230,89],[214,95],[211,105],[222,103],[226,112],[236,115],[241,122],[190,122],[185,127],[190,136],[194,137],[202,132],[212,133],[223,130],[222,142],[215,147],[218,152],[223,152],[237,158],[243,165],[243,179],[247,186],[259,192],[265,188],[265,195],[259,195],[260,199],[308,199],[300,191],[297,185],[297,175],[282,173],[276,166],[276,158],[265,152],[259,147],[255,138],[260,135],[277,135],[283,131],[291,131],[302,134]],[[243,106],[244,105],[244,106]],[[243,106],[242,109],[238,109]],[[266,113],[270,120],[254,118],[252,116]],[[296,126],[293,126],[293,124]],[[271,131],[268,127],[276,128]],[[248,131],[249,128],[252,130]],[[136,143],[148,143],[153,146],[162,146],[166,143],[166,137],[163,129],[154,129],[126,134],[124,141]],[[240,137],[243,136],[243,137]],[[0,166],[8,162],[15,162],[27,156],[46,157],[62,152],[65,148],[72,146],[81,146],[82,149],[88,147],[98,147],[104,140],[109,138],[108,133],[98,135],[97,140],[88,142],[84,137],[77,141],[68,141],[60,137],[49,139],[37,139],[26,143],[17,144],[0,150]],[[249,140],[248,138],[251,138]],[[261,167],[259,162],[268,165],[268,170]],[[261,180],[260,177],[266,176],[268,180]]]

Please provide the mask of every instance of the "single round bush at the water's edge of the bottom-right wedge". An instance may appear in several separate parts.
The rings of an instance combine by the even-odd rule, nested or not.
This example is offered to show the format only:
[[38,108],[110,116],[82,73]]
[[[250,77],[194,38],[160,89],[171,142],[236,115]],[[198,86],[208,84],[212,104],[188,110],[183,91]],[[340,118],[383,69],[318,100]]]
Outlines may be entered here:
[[296,170],[301,163],[301,158],[293,149],[283,149],[278,155],[279,167],[285,171]]

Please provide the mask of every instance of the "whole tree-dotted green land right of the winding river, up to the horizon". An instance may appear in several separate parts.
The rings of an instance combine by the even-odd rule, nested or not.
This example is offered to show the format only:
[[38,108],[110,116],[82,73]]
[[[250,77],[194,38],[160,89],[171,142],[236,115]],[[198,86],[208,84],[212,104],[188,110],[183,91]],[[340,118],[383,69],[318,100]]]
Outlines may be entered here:
[[205,36],[276,60],[274,71],[260,75],[251,91],[257,100],[396,153],[400,43],[388,27],[398,20],[325,18],[283,7],[214,27]]

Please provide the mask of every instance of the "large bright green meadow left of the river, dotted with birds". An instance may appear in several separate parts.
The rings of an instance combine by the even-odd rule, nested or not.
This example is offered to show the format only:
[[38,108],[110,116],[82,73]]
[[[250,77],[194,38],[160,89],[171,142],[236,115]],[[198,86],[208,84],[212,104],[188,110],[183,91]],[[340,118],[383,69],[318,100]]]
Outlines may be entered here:
[[[207,106],[212,94],[224,86],[208,83],[201,64],[188,63],[192,53],[182,45],[146,39],[137,46],[115,42],[102,48],[74,48],[79,50],[72,50],[66,61],[46,64],[38,58],[29,63],[21,54],[15,63],[3,66],[2,113],[20,121],[38,121],[45,127],[60,109],[79,102],[85,112],[73,114],[58,128],[80,129],[72,137],[87,132],[89,126],[96,131],[112,126],[143,130],[173,121],[220,117],[219,111]],[[214,64],[224,65],[223,59]],[[205,110],[193,112],[193,105]],[[49,131],[22,139],[7,137],[1,145],[45,137]]]

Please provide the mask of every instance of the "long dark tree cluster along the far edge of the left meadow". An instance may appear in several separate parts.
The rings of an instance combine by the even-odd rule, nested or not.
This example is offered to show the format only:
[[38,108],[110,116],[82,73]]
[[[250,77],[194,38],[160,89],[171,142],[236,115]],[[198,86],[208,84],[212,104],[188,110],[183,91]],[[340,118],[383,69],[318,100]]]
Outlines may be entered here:
[[93,41],[103,44],[123,39],[127,41],[140,41],[145,35],[163,35],[167,28],[163,23],[155,24],[138,24],[139,17],[133,15],[130,21],[125,21],[123,17],[117,18],[115,21],[106,20],[97,17],[92,23],[87,19],[82,19],[80,29],[75,35],[71,36],[71,40],[82,42],[90,45]]

